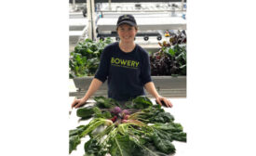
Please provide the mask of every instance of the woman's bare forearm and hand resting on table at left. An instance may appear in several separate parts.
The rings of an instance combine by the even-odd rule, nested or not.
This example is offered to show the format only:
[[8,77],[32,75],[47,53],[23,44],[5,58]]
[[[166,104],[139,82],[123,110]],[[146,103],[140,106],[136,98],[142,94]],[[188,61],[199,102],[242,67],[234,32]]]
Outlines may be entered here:
[[71,105],[72,108],[78,108],[78,107],[85,105],[88,98],[91,97],[100,88],[101,84],[103,84],[103,83],[100,80],[98,80],[97,78],[92,79],[85,97],[80,98],[80,99],[74,99],[74,101]]

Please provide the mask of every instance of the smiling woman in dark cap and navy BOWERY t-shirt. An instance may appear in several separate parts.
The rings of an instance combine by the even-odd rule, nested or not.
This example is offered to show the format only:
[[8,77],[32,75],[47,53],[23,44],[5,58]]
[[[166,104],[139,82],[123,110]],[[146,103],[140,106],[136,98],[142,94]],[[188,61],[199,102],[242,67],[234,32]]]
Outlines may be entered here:
[[130,98],[144,95],[143,87],[158,104],[172,107],[166,97],[161,97],[150,76],[150,61],[147,52],[134,43],[138,32],[136,20],[132,15],[122,15],[118,18],[116,31],[120,42],[107,45],[101,53],[101,62],[85,97],[74,99],[72,108],[84,105],[108,80],[108,97],[123,103]]

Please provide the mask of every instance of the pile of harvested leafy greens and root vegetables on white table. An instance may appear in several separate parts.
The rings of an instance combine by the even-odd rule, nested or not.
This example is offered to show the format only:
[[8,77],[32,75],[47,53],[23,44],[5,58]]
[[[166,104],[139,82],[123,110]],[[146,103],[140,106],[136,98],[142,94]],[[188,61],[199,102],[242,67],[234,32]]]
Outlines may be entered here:
[[174,117],[148,97],[136,97],[124,106],[112,98],[94,100],[95,106],[76,111],[81,119],[92,120],[70,130],[70,153],[87,135],[84,156],[168,156],[175,152],[173,140],[186,142],[182,124],[174,123]]

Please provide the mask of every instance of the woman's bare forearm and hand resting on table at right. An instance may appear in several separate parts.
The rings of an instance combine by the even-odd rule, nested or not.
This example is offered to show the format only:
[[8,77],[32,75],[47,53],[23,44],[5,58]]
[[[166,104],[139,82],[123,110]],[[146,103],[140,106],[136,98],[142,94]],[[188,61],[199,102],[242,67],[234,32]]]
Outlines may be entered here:
[[159,96],[159,94],[157,93],[157,91],[155,89],[155,84],[153,82],[149,82],[149,83],[145,84],[144,87],[148,91],[149,94],[151,94],[153,97],[155,97],[156,102],[159,103],[161,106],[162,106],[161,101],[164,101],[165,104],[167,105],[167,107],[172,107],[172,104],[168,100],[168,98]]

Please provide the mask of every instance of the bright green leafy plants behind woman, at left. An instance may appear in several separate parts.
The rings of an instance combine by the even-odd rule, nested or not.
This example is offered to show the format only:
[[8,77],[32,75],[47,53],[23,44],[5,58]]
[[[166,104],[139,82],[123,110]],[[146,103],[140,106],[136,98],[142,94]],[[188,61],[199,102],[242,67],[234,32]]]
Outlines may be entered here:
[[70,54],[69,77],[82,77],[94,75],[100,64],[101,53],[106,45],[112,43],[111,38],[99,42],[86,39],[79,42]]

